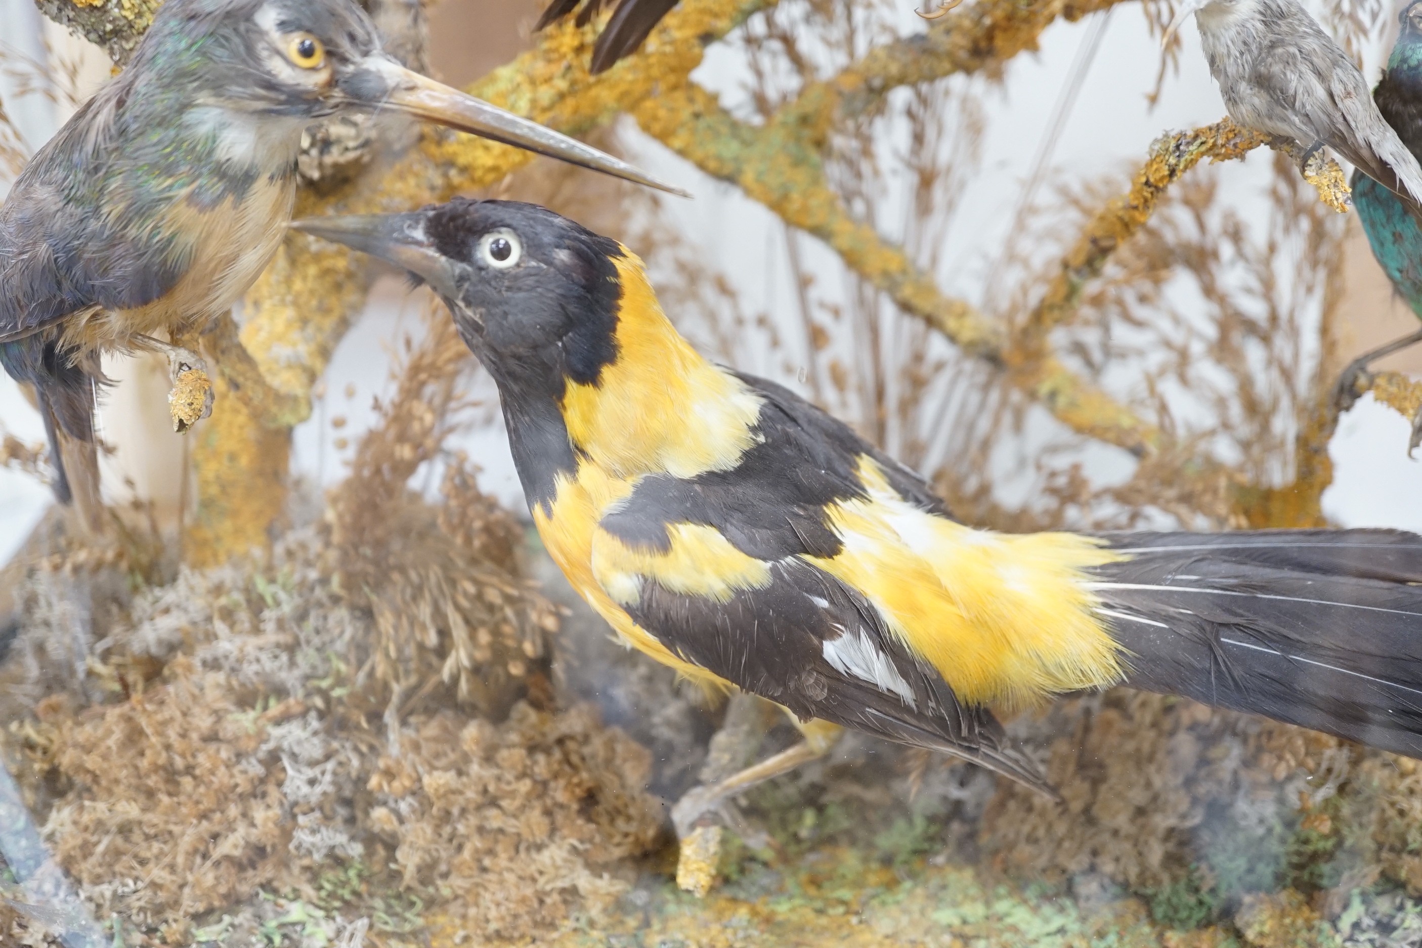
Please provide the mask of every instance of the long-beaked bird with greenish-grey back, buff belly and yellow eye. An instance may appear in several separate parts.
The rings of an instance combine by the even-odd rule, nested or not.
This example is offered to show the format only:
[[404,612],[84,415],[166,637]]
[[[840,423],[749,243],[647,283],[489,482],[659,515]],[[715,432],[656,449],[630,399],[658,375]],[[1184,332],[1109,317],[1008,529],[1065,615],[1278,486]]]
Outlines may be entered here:
[[630,165],[405,70],[351,0],[168,0],[132,64],[34,156],[0,208],[0,364],[34,385],[55,493],[100,527],[100,354],[201,331],[292,216],[301,131],[391,107],[654,186]]

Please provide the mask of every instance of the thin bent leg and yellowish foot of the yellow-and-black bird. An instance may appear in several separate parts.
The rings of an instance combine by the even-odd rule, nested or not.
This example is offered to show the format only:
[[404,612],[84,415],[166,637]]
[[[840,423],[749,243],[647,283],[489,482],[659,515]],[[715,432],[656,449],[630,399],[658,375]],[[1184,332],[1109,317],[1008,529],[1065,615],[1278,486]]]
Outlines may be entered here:
[[677,885],[698,895],[705,895],[711,890],[721,853],[718,817],[732,823],[741,822],[731,807],[731,797],[825,756],[843,733],[843,728],[826,721],[795,723],[805,739],[793,748],[744,767],[724,780],[693,787],[671,807],[671,823],[677,829],[677,839],[681,840]]

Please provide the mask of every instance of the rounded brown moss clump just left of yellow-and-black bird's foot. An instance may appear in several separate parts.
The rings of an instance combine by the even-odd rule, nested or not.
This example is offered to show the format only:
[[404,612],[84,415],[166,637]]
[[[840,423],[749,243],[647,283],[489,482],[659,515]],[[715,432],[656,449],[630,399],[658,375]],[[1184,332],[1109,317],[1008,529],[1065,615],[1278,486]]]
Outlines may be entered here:
[[523,938],[599,911],[626,891],[609,864],[644,853],[661,804],[643,792],[644,748],[589,708],[516,705],[502,726],[434,715],[411,722],[368,789],[371,826],[395,846],[404,885],[452,895],[437,932]]

